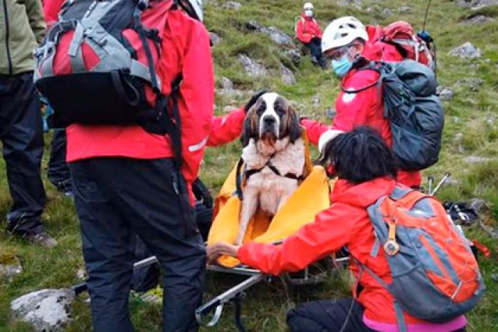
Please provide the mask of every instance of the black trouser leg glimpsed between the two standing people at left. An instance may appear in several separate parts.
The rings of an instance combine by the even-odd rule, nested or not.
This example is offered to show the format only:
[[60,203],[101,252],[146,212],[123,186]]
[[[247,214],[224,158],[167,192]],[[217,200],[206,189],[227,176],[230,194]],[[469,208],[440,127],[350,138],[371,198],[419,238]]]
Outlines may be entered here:
[[69,167],[65,162],[65,146],[65,129],[54,129],[47,175],[48,180],[58,188],[70,185],[71,181]]

